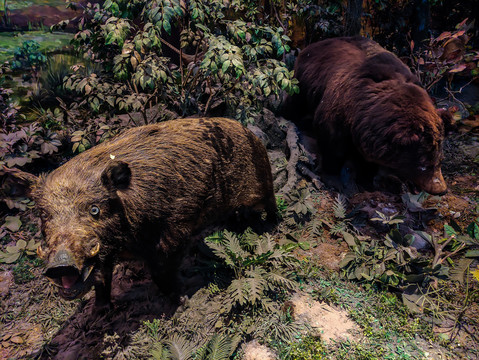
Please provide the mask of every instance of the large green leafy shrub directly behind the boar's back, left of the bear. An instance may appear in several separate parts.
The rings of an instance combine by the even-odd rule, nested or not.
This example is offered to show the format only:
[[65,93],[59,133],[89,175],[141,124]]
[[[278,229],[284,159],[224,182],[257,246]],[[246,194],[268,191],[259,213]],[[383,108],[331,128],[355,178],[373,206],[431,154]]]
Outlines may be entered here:
[[[284,29],[231,16],[244,9],[240,2],[178,0],[88,4],[73,43],[106,71],[76,72],[65,88],[95,112],[145,113],[165,103],[181,115],[222,107],[253,121],[257,110],[298,86],[281,61],[290,50]],[[178,35],[179,44],[168,42]]]

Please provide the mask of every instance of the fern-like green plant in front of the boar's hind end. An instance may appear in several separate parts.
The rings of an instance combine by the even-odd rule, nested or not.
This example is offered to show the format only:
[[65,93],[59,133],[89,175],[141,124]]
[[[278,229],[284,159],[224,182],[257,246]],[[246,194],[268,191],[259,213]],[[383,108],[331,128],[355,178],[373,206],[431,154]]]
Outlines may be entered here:
[[225,231],[222,238],[205,239],[206,245],[232,270],[234,279],[226,289],[225,307],[259,307],[273,310],[271,297],[294,289],[291,265],[296,261],[285,247],[269,235]]

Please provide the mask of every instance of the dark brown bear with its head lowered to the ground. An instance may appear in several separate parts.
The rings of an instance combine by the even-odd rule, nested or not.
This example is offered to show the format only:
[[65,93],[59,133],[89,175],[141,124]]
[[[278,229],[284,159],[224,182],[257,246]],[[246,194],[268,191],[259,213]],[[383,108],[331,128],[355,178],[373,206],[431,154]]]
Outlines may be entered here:
[[451,115],[436,110],[418,78],[393,53],[362,37],[323,40],[298,56],[300,92],[284,115],[313,132],[322,170],[346,162],[388,168],[421,190],[447,190],[442,143]]

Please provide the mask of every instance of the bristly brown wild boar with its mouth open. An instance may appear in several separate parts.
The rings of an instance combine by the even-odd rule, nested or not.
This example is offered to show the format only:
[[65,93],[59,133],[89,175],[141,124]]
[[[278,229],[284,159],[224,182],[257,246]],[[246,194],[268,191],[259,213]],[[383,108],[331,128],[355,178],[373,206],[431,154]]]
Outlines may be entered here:
[[174,288],[193,233],[242,210],[276,217],[266,149],[236,121],[178,119],[127,130],[74,157],[33,187],[45,275],[72,299],[92,285],[110,301],[121,252],[146,260]]

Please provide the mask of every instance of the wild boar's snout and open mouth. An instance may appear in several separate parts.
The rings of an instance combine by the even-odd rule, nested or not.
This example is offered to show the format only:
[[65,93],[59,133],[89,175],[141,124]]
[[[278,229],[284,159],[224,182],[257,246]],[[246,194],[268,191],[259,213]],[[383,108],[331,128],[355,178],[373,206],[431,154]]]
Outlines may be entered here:
[[92,274],[94,265],[85,264],[80,270],[74,263],[73,255],[60,250],[51,266],[44,275],[58,287],[61,297],[72,300],[85,294],[92,286]]

